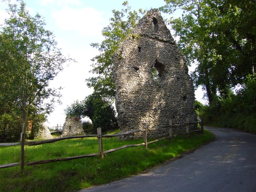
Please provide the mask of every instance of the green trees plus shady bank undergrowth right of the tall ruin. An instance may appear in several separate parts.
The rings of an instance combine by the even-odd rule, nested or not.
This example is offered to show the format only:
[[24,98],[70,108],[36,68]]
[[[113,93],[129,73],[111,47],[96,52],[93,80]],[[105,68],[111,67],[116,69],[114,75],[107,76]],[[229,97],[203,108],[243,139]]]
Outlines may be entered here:
[[178,8],[182,17],[170,23],[187,62],[198,62],[194,82],[206,90],[210,104],[198,108],[200,114],[208,124],[255,133],[256,2],[166,0],[162,10]]

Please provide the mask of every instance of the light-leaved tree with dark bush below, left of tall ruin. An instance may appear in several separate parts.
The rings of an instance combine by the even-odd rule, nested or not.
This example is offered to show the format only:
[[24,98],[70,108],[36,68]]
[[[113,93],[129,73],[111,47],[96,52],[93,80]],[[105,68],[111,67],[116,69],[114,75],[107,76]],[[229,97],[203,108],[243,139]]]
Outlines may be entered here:
[[[97,76],[86,79],[88,87],[94,88],[94,93],[86,97],[82,102],[75,101],[65,110],[66,114],[72,116],[89,117],[92,120],[93,128],[101,127],[108,130],[116,126],[117,120],[111,100],[114,99],[115,86],[112,80],[113,56],[118,47],[136,27],[140,16],[138,12],[131,11],[128,2],[123,3],[125,7],[121,11],[112,10],[113,17],[110,24],[104,27],[102,35],[105,40],[99,43],[92,43],[100,54],[92,58],[93,69],[90,71]],[[142,14],[142,10],[139,10]]]

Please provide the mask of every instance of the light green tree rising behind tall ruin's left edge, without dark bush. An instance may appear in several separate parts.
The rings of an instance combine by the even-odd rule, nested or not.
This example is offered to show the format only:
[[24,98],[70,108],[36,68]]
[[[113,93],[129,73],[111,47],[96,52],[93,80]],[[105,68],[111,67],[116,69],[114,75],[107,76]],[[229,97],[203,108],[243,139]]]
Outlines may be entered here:
[[[94,92],[99,96],[113,99],[115,95],[115,86],[112,80],[114,53],[131,31],[136,27],[140,16],[138,12],[131,11],[128,2],[123,3],[125,7],[121,11],[112,10],[113,17],[110,18],[110,24],[104,27],[102,35],[105,37],[100,44],[92,43],[93,48],[97,48],[101,53],[92,58],[93,69],[90,71],[97,76],[86,79],[87,85],[94,88]],[[142,10],[139,10],[140,13]]]

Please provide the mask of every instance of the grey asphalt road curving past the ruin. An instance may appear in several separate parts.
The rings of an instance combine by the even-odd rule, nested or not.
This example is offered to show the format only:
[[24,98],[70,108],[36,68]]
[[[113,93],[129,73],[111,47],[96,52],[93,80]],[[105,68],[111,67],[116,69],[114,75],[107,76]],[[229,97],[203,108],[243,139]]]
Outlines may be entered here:
[[256,135],[210,128],[216,140],[148,173],[80,192],[256,192]]

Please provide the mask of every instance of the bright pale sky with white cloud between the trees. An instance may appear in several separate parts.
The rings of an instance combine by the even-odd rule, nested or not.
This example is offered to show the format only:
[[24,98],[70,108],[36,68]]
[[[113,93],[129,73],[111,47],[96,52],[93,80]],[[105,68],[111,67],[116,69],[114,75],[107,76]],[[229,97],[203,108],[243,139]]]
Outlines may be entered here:
[[[15,1],[12,1],[15,2]],[[62,105],[56,105],[54,112],[48,116],[48,125],[64,124],[64,109],[75,100],[83,100],[93,92],[86,86],[85,79],[92,76],[89,73],[91,58],[98,51],[90,43],[100,43],[103,40],[102,29],[109,24],[112,10],[121,10],[124,0],[24,0],[26,8],[32,16],[36,13],[44,17],[46,29],[54,32],[58,47],[62,53],[70,55],[77,63],[70,63],[50,83],[52,87],[60,87]],[[128,0],[132,10],[150,10],[165,4],[164,0]],[[0,24],[7,17],[7,4],[0,2]],[[163,15],[170,18],[170,15]],[[177,17],[179,15],[175,15]],[[202,91],[196,92],[196,98],[202,99]]]

